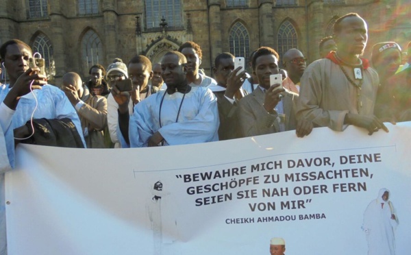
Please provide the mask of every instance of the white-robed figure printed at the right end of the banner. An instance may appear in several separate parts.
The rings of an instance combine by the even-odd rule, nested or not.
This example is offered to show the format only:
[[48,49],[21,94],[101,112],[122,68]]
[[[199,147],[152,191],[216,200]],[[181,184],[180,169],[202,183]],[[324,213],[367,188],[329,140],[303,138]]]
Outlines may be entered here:
[[395,229],[398,217],[390,191],[380,189],[377,199],[373,199],[364,212],[362,230],[366,234],[370,255],[395,255]]

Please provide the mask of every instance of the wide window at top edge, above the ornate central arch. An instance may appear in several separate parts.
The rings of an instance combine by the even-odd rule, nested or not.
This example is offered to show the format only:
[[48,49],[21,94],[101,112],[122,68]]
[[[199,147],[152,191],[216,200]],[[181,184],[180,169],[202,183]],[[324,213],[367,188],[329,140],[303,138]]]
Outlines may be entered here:
[[182,4],[180,0],[145,0],[146,28],[159,28],[164,16],[168,27],[182,27]]

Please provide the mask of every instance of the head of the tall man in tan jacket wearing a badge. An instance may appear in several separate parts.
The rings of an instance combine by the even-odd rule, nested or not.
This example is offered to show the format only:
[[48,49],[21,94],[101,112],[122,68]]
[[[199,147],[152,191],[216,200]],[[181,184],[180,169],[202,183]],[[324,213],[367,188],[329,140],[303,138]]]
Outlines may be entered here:
[[338,51],[349,55],[361,55],[368,40],[365,21],[357,16],[349,16],[340,22],[340,27],[340,32],[334,36]]

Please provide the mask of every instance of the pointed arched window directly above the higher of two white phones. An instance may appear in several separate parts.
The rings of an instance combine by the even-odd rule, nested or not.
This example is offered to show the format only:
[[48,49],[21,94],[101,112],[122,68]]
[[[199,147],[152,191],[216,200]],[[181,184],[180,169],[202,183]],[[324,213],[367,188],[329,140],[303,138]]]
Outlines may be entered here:
[[240,22],[236,22],[229,32],[229,52],[236,57],[244,57],[248,62],[250,38],[247,28]]

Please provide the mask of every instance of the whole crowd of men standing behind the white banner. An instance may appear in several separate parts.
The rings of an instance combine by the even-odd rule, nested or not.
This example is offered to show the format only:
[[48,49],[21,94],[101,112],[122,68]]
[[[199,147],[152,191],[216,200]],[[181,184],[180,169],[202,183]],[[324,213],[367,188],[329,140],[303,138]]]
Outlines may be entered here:
[[[347,125],[370,135],[388,132],[384,121],[411,119],[411,98],[404,93],[411,82],[411,53],[400,67],[401,47],[381,42],[369,62],[360,58],[367,38],[366,21],[350,13],[336,21],[334,36],[319,43],[321,59],[308,66],[299,49],[280,60],[275,49],[260,47],[251,53],[249,74],[234,69],[231,53],[219,54],[214,80],[199,69],[200,46],[185,42],[161,63],[145,56],[127,64],[116,58],[107,69],[92,66],[87,82],[66,73],[60,86],[49,86],[38,67],[29,67],[33,52],[25,42],[9,40],[0,48],[9,77],[0,87],[0,189],[3,173],[14,167],[17,143],[152,147],[288,130],[303,137],[313,127],[343,131]],[[283,81],[271,84],[270,76],[278,73]],[[59,139],[49,141],[40,125],[58,132]],[[1,205],[3,199],[0,195]],[[0,215],[4,231],[4,208]]]

